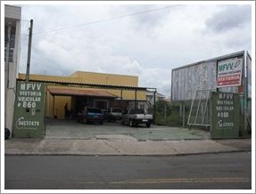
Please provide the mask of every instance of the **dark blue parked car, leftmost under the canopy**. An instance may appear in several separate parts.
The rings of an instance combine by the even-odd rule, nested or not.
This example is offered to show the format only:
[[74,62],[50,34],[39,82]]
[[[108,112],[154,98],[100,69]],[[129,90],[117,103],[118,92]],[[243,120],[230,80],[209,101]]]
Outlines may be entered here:
[[78,122],[103,124],[103,112],[101,109],[86,107],[78,113]]

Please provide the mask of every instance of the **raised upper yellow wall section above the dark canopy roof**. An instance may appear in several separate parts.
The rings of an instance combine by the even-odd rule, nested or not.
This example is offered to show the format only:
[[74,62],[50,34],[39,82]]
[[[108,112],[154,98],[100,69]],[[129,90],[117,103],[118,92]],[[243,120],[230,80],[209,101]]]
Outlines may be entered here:
[[80,77],[92,84],[138,86],[138,77],[134,76],[77,71],[71,77]]

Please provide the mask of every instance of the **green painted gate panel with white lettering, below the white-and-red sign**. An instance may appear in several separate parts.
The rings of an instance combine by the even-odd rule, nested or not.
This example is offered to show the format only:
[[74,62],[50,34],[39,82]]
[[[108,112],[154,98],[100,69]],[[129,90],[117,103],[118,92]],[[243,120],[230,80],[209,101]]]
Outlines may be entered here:
[[212,93],[211,138],[239,136],[239,94]]

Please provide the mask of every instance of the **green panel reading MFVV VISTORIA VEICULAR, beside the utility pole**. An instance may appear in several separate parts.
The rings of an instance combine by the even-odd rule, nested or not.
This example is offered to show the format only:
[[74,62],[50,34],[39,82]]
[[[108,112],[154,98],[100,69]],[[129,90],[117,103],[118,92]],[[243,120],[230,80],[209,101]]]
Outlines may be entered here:
[[45,85],[18,82],[13,117],[13,137],[43,137]]

